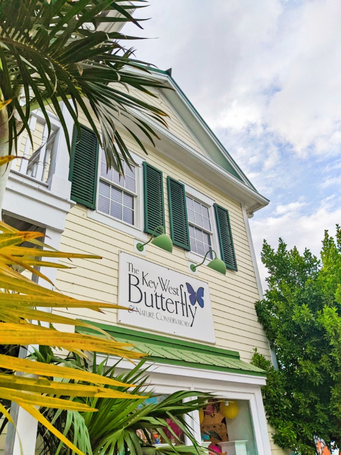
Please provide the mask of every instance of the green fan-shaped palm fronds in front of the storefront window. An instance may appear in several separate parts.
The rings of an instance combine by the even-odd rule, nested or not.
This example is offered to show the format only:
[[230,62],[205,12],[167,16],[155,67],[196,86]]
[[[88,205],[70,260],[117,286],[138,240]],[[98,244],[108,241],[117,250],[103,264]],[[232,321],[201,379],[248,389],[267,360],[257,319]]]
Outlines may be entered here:
[[[94,366],[89,367],[86,362],[79,359],[78,356],[72,354],[70,356],[72,362],[76,362],[79,366],[83,365],[86,370],[95,368],[97,374],[102,374],[111,379],[126,382],[131,381],[137,386],[131,391],[132,396],[145,396],[137,400],[128,401],[126,399],[110,400],[107,398],[77,398],[77,402],[95,407],[98,411],[95,414],[80,413],[82,422],[77,416],[77,413],[71,414],[70,411],[62,411],[58,413],[58,418],[51,410],[45,410],[44,415],[50,418],[53,424],[69,439],[75,437],[81,438],[83,448],[87,445],[87,455],[96,453],[96,455],[109,455],[117,453],[129,453],[130,455],[154,455],[156,448],[153,445],[150,434],[157,432],[168,443],[168,447],[158,448],[164,451],[165,455],[182,454],[182,453],[203,453],[202,448],[195,441],[190,425],[184,419],[184,415],[194,410],[202,409],[206,406],[207,400],[212,398],[209,394],[193,391],[180,391],[169,395],[161,403],[146,404],[145,399],[150,397],[147,394],[147,384],[149,382],[148,368],[145,367],[146,359],[140,361],[132,371],[115,375],[115,366],[106,368],[106,361],[103,361],[96,367],[96,359]],[[69,359],[69,360],[70,360]],[[109,386],[109,388],[113,388]],[[114,387],[115,390],[121,393],[127,391],[127,388],[122,386]],[[194,398],[196,397],[196,398]],[[187,401],[189,400],[189,401]],[[192,443],[192,446],[173,445],[166,434],[166,430],[171,433],[175,440],[179,440],[178,436],[172,430],[169,424],[171,419],[183,431]],[[85,426],[84,426],[85,425]],[[82,429],[80,429],[82,428]],[[86,430],[85,430],[86,428]],[[47,453],[59,453],[62,445],[51,435],[46,435],[45,430],[41,427],[41,435],[44,437],[44,447],[41,449],[40,455]],[[80,431],[84,431],[80,436]],[[138,432],[142,431],[146,436],[147,442],[138,436]],[[180,442],[180,440],[179,440]],[[89,450],[91,446],[91,451]],[[57,448],[58,447],[58,448]],[[60,451],[60,453],[63,453]],[[70,453],[71,452],[66,452]]]

